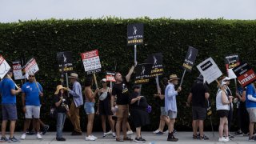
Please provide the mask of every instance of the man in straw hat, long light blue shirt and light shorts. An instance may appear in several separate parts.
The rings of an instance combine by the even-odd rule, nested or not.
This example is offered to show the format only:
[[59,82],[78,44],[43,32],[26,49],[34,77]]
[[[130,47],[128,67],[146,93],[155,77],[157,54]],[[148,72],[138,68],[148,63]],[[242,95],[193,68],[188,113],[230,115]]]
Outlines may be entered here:
[[176,74],[170,75],[169,84],[166,86],[165,90],[165,109],[166,113],[168,114],[168,117],[170,118],[170,122],[168,124],[168,138],[167,141],[177,142],[178,138],[174,137],[174,123],[175,118],[177,118],[177,103],[176,103],[176,96],[178,93],[182,90],[182,87],[178,87],[177,90],[175,90],[175,85],[178,85],[178,77]]

